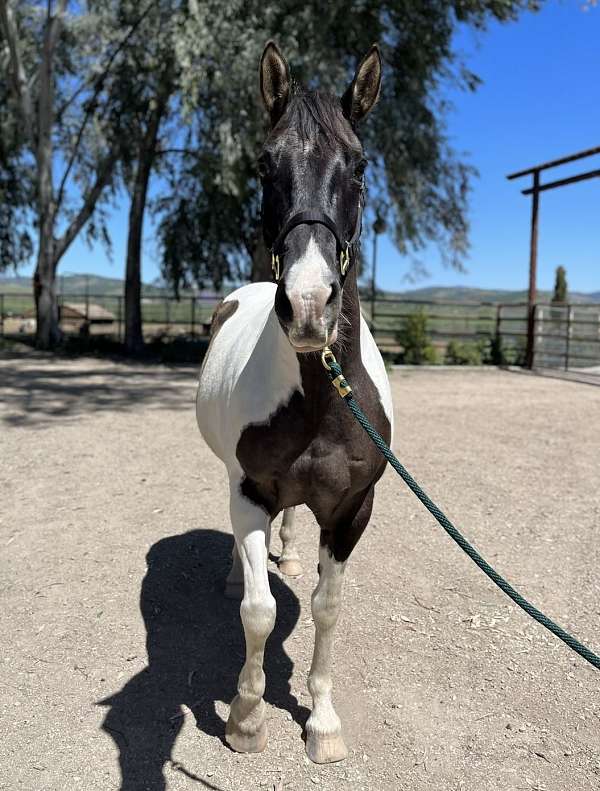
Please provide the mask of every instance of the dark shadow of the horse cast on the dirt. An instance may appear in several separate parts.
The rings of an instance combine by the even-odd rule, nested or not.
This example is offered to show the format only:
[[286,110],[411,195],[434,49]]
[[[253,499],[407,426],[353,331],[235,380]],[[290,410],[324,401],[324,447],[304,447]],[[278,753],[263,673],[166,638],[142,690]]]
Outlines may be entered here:
[[[245,655],[239,602],[223,595],[232,547],[230,535],[192,530],[158,541],[146,556],[140,608],[148,666],[98,703],[109,707],[102,729],[119,750],[120,791],[164,791],[167,763],[189,774],[171,758],[183,727],[182,705],[199,729],[224,741],[225,723],[215,703],[235,696]],[[283,649],[300,603],[276,575],[269,574],[269,582],[277,621],[265,652],[265,700],[304,726],[309,711],[291,693],[294,665]]]

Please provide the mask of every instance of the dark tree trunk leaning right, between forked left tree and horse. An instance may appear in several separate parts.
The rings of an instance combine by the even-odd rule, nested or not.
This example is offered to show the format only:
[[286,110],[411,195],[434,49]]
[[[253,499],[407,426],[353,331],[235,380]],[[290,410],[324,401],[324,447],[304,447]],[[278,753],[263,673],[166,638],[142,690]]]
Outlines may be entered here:
[[150,113],[146,133],[140,141],[137,170],[129,207],[127,232],[127,261],[125,266],[125,348],[131,354],[139,354],[144,348],[142,332],[142,234],[148,183],[156,156],[156,141],[166,103],[169,97],[167,86],[161,91]]

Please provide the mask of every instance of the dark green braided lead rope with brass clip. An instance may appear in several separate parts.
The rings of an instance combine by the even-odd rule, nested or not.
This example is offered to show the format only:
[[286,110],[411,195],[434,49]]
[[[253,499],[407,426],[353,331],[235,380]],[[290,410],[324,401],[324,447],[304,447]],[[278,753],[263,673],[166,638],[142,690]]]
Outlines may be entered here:
[[590,665],[593,665],[597,670],[600,670],[600,657],[596,656],[593,651],[590,651],[583,643],[580,643],[575,637],[570,635],[568,632],[565,632],[558,624],[554,623],[554,621],[550,620],[543,612],[540,612],[537,607],[534,607],[533,604],[527,601],[521,594],[516,591],[512,585],[510,585],[504,577],[501,577],[498,572],[493,569],[490,564],[483,558],[479,552],[477,552],[474,547],[469,544],[467,539],[460,533],[452,524],[452,522],[448,519],[448,517],[437,507],[437,505],[427,496],[427,494],[421,489],[419,484],[415,481],[412,475],[408,472],[408,470],[398,461],[398,459],[394,456],[386,442],[384,441],[383,437],[375,431],[373,426],[370,424],[367,416],[362,411],[360,406],[357,404],[354,396],[352,395],[352,389],[348,382],[345,380],[344,375],[342,373],[342,369],[340,368],[339,363],[335,359],[331,349],[325,348],[323,350],[322,355],[323,365],[327,369],[329,378],[331,379],[332,384],[341,395],[342,399],[346,402],[349,409],[351,410],[354,417],[358,420],[360,425],[364,428],[367,432],[371,440],[375,443],[375,445],[379,448],[381,453],[385,456],[387,461],[392,465],[392,467],[396,470],[398,475],[402,478],[404,483],[408,486],[411,491],[413,491],[419,500],[423,503],[425,508],[432,514],[438,523],[444,528],[446,533],[452,538],[458,546],[466,552],[466,554],[471,558],[471,560],[483,571],[484,574],[495,582],[496,585],[506,593],[506,595],[514,601],[522,610],[530,615],[534,621],[537,621],[542,626],[545,626],[552,634],[556,635],[559,640],[562,640],[563,643],[566,643],[569,648],[571,648],[575,653],[579,654],[579,656],[583,657],[587,660]]

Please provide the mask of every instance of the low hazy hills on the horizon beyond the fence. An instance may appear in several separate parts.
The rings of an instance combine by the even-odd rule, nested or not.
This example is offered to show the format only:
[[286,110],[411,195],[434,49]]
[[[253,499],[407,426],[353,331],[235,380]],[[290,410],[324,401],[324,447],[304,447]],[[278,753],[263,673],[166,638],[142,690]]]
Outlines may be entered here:
[[[144,296],[162,296],[169,294],[170,291],[164,286],[145,283],[142,287]],[[100,275],[59,275],[59,293],[69,295],[105,294],[113,296],[123,293],[123,281],[117,278],[101,277]],[[364,295],[368,294],[368,288],[361,289]],[[31,293],[31,278],[19,276],[0,275],[0,293],[23,294]],[[381,292],[379,292],[381,295]],[[425,286],[406,291],[388,291],[388,297],[398,299],[423,300],[424,302],[527,302],[526,291],[509,291],[506,289],[484,289],[467,288],[466,286]],[[541,301],[549,302],[552,297],[550,291],[540,291]],[[591,294],[570,292],[571,302],[597,302],[600,303],[600,291]]]

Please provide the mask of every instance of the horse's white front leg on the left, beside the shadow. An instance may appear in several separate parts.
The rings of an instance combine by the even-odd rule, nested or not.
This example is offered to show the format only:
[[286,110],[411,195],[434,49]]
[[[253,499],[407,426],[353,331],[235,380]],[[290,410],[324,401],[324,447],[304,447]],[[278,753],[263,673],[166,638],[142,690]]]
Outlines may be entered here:
[[270,518],[241,495],[237,482],[231,482],[230,496],[231,522],[244,576],[240,615],[246,636],[246,661],[238,679],[238,694],[231,704],[225,738],[234,750],[253,753],[264,750],[267,744],[263,656],[275,624],[275,599],[267,575]]

